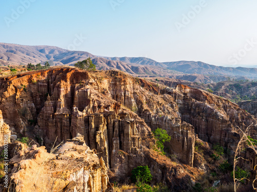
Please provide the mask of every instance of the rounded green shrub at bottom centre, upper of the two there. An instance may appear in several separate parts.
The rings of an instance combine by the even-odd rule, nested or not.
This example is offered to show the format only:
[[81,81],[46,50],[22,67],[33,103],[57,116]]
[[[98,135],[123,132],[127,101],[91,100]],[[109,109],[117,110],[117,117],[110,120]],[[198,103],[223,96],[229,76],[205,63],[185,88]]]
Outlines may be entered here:
[[152,180],[152,175],[148,166],[138,166],[132,170],[131,181],[148,183]]

